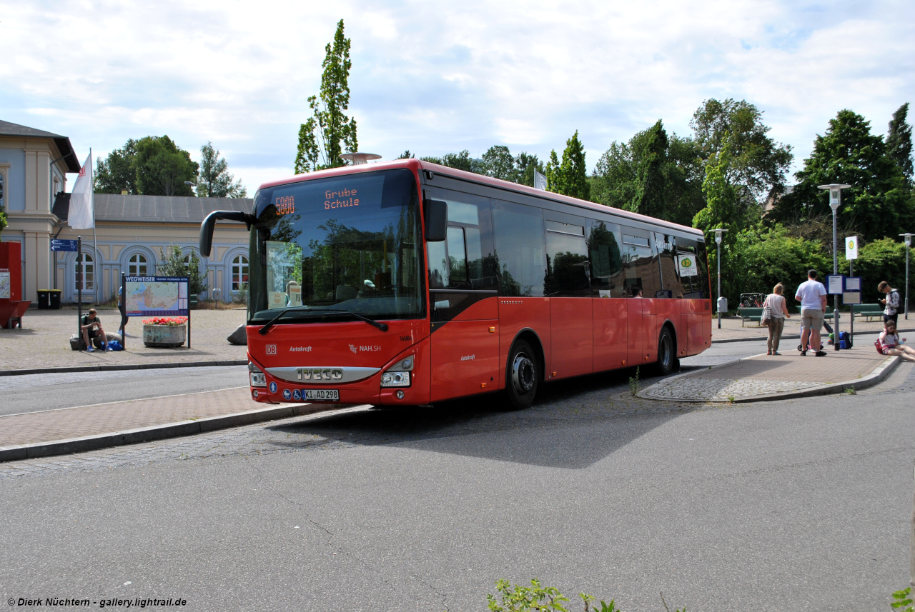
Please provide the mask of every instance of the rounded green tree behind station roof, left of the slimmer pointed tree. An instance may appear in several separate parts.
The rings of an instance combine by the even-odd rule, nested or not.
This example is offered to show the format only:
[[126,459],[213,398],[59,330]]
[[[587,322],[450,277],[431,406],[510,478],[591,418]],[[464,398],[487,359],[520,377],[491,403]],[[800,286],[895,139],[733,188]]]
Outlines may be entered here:
[[145,136],[135,143],[136,187],[142,195],[194,195],[187,181],[198,164],[168,136]]

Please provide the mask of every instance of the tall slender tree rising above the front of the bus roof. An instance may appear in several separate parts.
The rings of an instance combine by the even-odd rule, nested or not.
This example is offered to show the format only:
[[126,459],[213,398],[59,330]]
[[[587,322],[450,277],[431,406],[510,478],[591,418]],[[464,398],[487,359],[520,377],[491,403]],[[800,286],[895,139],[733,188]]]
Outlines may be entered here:
[[350,39],[343,37],[343,20],[337,24],[333,46],[327,44],[321,68],[320,100],[308,98],[313,115],[298,131],[296,174],[337,168],[345,165],[339,158],[346,147],[348,153],[358,150],[356,120],[344,111],[350,108]]

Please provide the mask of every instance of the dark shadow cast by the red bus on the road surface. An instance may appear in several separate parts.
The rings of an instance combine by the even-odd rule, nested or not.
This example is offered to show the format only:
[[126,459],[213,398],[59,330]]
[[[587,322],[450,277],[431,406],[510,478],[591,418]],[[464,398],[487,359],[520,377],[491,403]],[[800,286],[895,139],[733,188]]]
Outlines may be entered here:
[[[364,408],[330,413],[274,431],[358,446],[398,445],[483,459],[582,469],[660,427],[691,406],[629,394],[632,371],[589,375],[546,386],[529,410],[506,411],[501,394],[432,407]],[[660,377],[643,379],[651,385]],[[620,418],[625,417],[625,418]],[[295,438],[278,446],[300,446]],[[314,442],[309,443],[309,446]]]

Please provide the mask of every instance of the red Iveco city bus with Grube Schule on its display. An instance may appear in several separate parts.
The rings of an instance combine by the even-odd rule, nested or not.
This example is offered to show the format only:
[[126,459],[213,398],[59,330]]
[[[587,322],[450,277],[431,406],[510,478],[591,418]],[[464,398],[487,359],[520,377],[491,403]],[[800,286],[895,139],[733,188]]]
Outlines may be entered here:
[[426,406],[711,344],[700,230],[419,160],[261,185],[248,355],[258,402]]

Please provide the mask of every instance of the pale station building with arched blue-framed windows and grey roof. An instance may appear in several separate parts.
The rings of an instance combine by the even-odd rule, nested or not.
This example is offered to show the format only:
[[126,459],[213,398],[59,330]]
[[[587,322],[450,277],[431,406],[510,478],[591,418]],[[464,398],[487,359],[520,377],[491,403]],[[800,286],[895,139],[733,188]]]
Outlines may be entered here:
[[[0,240],[21,243],[22,295],[33,305],[38,290],[46,289],[61,290],[61,301],[77,300],[77,253],[51,252],[51,238],[82,237],[82,300],[107,301],[117,294],[122,272],[155,275],[169,244],[177,244],[186,259],[191,252],[199,256],[200,223],[210,212],[251,212],[253,205],[250,198],[94,194],[93,242],[92,229],[67,225],[66,174],[79,173],[80,166],[66,136],[0,121],[0,205],[8,223]],[[244,224],[217,223],[210,258],[200,258],[200,268],[209,288],[201,299],[242,295],[248,280]]]

